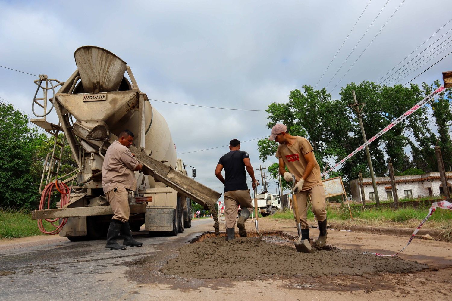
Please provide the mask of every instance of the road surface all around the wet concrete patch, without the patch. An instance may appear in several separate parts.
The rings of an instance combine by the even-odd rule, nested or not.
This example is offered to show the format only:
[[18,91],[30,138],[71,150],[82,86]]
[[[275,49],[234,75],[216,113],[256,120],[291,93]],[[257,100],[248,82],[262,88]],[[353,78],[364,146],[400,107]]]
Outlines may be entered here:
[[[206,231],[211,218],[193,220],[178,236],[135,238],[144,246],[105,250],[105,241],[71,242],[60,236],[0,240],[0,300],[451,300],[452,243],[415,239],[400,259],[417,260],[429,269],[417,273],[329,275],[318,278],[262,275],[259,279],[184,278],[159,272],[178,248]],[[253,231],[254,222],[246,226]],[[296,235],[293,221],[259,219],[261,231]],[[225,231],[224,218],[220,231]],[[311,238],[318,230],[311,229]],[[407,236],[328,232],[328,242],[343,249],[392,254]],[[121,242],[121,241],[119,241]],[[392,252],[392,253],[391,253]],[[231,254],[234,256],[234,254]],[[271,264],[267,259],[255,264]],[[325,264],[325,263],[324,263]],[[212,269],[217,267],[212,266]]]

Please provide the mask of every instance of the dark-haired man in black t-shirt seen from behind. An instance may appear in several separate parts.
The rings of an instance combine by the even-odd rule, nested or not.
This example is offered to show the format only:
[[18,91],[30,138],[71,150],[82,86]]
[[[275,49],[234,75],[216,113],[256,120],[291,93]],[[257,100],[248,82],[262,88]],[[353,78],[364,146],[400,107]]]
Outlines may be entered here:
[[[240,141],[232,139],[229,142],[229,150],[229,153],[220,158],[215,169],[215,176],[225,185],[224,202],[227,241],[235,238],[235,218],[239,205],[242,211],[240,212],[237,227],[241,237],[246,236],[245,221],[253,212],[250,190],[248,185],[246,185],[245,168],[251,176],[253,189],[259,184],[254,178],[254,169],[250,163],[250,156],[247,152],[240,150]],[[226,180],[221,175],[223,168]]]

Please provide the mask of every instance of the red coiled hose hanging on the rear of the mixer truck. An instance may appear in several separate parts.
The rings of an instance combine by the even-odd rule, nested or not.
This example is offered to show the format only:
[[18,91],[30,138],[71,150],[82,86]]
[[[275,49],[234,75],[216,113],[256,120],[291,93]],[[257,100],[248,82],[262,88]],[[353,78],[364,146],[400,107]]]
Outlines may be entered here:
[[[44,190],[42,191],[41,202],[39,203],[39,210],[44,210],[44,203],[46,202],[46,199],[47,199],[47,208],[46,209],[50,209],[50,197],[52,196],[53,186],[55,186],[56,190],[58,190],[58,192],[61,194],[60,208],[63,208],[64,205],[69,203],[69,196],[71,195],[71,190],[65,183],[63,183],[63,182],[58,183],[58,180],[56,180],[55,182],[49,183],[46,186],[46,188],[44,188]],[[60,218],[55,218],[55,219],[45,218],[45,220],[47,222],[50,222],[52,224],[52,226],[55,227],[55,229],[53,231],[46,231],[46,229],[44,229],[44,226],[42,225],[42,219],[38,219],[39,231],[41,231],[42,233],[45,233],[45,234],[50,234],[50,235],[58,234],[61,231],[61,228],[67,222],[67,218],[62,218],[59,225],[54,224],[54,222],[58,221],[59,219]]]

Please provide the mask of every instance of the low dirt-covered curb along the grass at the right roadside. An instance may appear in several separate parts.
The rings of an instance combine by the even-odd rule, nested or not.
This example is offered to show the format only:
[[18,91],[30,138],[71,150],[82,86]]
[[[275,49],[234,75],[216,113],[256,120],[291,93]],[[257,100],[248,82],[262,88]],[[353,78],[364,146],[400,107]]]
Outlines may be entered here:
[[[330,223],[330,228],[338,230],[352,230],[356,232],[366,232],[372,234],[382,234],[382,235],[395,235],[395,236],[411,236],[413,234],[414,228],[395,228],[395,227],[371,227],[371,226],[346,226],[336,223]],[[442,230],[433,229],[420,229],[416,234],[416,238],[423,238],[422,236],[428,234],[432,236],[437,241],[448,241],[444,239]]]

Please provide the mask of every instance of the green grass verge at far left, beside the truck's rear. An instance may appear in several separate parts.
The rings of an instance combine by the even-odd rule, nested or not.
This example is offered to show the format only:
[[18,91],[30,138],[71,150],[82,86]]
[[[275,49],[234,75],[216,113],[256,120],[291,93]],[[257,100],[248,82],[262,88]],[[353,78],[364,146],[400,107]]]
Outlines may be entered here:
[[[50,222],[43,222],[46,230],[52,229]],[[42,234],[38,222],[31,219],[27,210],[0,209],[0,239],[19,238]]]

